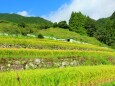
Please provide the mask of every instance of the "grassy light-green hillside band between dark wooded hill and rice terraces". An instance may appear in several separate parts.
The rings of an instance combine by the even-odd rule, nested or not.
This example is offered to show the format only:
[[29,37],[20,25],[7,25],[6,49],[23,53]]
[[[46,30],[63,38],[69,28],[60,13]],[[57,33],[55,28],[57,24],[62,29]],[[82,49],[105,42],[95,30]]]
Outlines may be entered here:
[[74,31],[70,31],[68,29],[63,29],[59,27],[51,27],[47,29],[41,29],[41,27],[37,24],[26,24],[25,28],[20,27],[17,23],[0,23],[0,34],[9,34],[9,35],[24,35],[28,36],[35,35],[36,37],[39,34],[42,34],[43,36],[57,38],[57,39],[73,39],[79,42],[99,45],[99,46],[105,46],[105,44],[99,42],[94,37],[89,37],[88,35],[80,35],[79,33],[76,33]]

